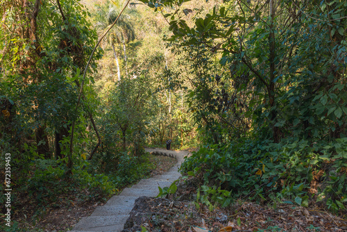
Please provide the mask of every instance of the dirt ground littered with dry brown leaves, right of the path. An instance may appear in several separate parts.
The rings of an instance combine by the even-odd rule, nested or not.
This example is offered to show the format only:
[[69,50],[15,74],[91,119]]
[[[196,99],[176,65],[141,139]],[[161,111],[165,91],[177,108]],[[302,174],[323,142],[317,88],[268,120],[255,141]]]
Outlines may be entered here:
[[[321,209],[292,204],[276,208],[237,201],[228,208],[212,210],[194,198],[192,187],[180,188],[169,199],[141,197],[135,201],[126,222],[130,231],[347,231],[347,217],[341,218]],[[198,207],[198,208],[197,208]]]

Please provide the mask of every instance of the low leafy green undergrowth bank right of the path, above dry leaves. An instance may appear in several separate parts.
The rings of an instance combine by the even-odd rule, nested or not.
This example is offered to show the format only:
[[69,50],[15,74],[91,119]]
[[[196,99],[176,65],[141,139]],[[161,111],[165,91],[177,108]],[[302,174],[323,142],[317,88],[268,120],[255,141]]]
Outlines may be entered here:
[[347,139],[244,140],[204,146],[187,158],[183,172],[200,181],[198,201],[228,206],[235,199],[328,208],[346,215]]

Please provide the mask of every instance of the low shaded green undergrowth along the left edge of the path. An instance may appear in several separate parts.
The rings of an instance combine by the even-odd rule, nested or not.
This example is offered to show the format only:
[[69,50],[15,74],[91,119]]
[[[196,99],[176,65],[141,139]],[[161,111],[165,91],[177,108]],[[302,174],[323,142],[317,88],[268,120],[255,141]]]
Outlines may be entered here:
[[[35,160],[30,165],[31,172],[17,177],[12,185],[12,212],[17,213],[12,217],[12,226],[1,223],[2,229],[26,231],[25,225],[35,225],[49,210],[105,202],[112,194],[149,176],[156,167],[149,156],[146,153],[130,160],[128,154],[119,155],[117,172],[97,172],[92,164],[82,160],[71,175],[66,174],[67,167],[60,160]],[[5,201],[1,197],[0,203],[4,205]]]

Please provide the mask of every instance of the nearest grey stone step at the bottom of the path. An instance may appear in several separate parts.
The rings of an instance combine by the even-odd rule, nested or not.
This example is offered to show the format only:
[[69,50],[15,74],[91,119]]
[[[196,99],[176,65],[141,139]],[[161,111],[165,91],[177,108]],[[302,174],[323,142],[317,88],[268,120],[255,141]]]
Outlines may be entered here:
[[75,231],[121,231],[124,229],[128,214],[117,216],[82,217],[74,227]]

